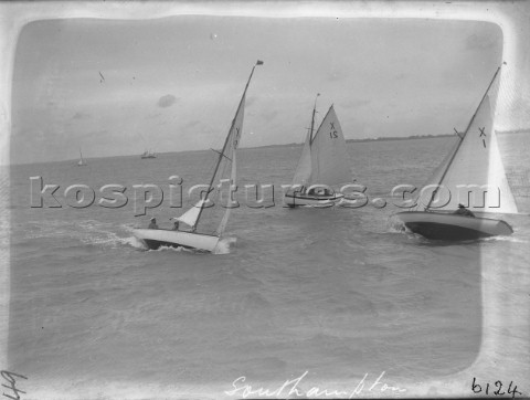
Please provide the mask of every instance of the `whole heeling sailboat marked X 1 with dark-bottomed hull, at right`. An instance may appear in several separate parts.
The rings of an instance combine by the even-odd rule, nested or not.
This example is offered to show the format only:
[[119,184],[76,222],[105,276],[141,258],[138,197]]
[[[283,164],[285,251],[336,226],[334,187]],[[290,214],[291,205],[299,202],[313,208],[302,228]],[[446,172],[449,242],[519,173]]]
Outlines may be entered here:
[[430,178],[427,183],[434,190],[420,194],[414,211],[394,215],[410,231],[427,239],[454,241],[513,233],[506,221],[484,217],[518,212],[494,130],[491,101],[497,97],[499,71],[500,67],[466,130],[457,133],[452,151]]

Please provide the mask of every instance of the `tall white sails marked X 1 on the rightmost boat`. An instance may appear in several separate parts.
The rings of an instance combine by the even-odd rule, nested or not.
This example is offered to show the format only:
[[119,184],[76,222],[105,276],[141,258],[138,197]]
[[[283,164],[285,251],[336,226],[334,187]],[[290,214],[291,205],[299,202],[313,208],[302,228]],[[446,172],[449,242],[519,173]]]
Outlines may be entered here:
[[454,211],[462,203],[478,212],[517,213],[494,130],[499,70],[467,129],[458,134],[452,152],[434,173],[431,183],[439,189],[427,190],[420,199],[425,209]]

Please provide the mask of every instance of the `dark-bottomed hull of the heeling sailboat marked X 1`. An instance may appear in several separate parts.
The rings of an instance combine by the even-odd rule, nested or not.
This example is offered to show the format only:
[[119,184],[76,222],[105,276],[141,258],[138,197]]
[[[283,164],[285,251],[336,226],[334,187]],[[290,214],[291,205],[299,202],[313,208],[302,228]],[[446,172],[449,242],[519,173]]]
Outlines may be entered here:
[[410,231],[427,239],[463,241],[513,233],[502,220],[454,213],[405,211],[395,214]]

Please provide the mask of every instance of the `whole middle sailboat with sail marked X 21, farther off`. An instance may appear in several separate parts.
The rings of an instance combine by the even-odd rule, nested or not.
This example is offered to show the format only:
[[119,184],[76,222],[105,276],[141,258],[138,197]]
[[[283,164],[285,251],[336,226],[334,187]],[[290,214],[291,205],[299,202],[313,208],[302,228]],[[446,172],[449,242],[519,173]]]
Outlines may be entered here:
[[333,105],[329,107],[315,133],[316,108],[317,99],[315,99],[311,126],[306,135],[293,186],[284,196],[284,201],[289,207],[333,206],[343,198],[343,194],[333,191],[331,186],[351,181],[344,135]]

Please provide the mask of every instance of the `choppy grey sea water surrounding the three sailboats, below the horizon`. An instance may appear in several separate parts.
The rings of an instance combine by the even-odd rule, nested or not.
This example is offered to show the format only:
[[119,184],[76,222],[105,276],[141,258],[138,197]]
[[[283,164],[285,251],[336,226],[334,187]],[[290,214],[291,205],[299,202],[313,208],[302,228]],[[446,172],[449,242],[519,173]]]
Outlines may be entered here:
[[[399,183],[420,186],[451,139],[349,144],[358,182],[390,202]],[[499,146],[522,212],[528,135]],[[241,182],[288,183],[301,147],[242,149]],[[131,228],[180,213],[168,202],[147,217],[118,209],[30,208],[30,177],[44,183],[157,183],[179,175],[205,183],[211,154],[165,154],[11,168],[9,368],[30,379],[29,397],[63,390],[83,398],[108,385],[230,390],[241,376],[283,382],[309,371],[333,381],[378,376],[423,381],[456,372],[481,340],[480,254],[524,267],[528,217],[507,217],[515,234],[439,244],[394,231],[378,209],[253,209],[232,212],[226,254],[142,251]],[[279,198],[278,198],[279,199]],[[308,378],[309,379],[309,378]],[[94,389],[93,389],[94,390]],[[193,392],[192,389],[188,389]],[[212,389],[213,390],[213,389]],[[219,396],[218,396],[219,394]],[[202,397],[202,394],[197,394]]]

